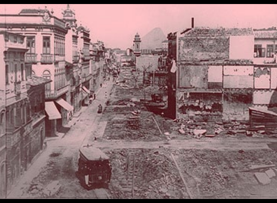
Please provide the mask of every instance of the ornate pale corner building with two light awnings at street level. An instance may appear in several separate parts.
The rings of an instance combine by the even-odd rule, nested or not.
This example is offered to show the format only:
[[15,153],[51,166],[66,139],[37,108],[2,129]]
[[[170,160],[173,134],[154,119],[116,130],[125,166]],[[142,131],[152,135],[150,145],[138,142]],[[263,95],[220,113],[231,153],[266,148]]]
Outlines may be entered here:
[[0,28],[26,36],[26,63],[32,75],[52,82],[45,87],[47,136],[55,136],[74,108],[65,63],[65,22],[53,12],[24,9],[19,15],[1,15]]

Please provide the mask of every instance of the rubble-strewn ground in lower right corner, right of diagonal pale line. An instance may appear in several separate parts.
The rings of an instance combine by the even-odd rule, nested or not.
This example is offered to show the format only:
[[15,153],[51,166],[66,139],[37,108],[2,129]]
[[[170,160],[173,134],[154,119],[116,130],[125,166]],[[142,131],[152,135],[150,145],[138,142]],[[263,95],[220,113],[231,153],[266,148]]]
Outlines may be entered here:
[[[258,182],[254,172],[245,170],[251,169],[253,165],[272,165],[277,162],[277,154],[271,150],[178,152],[178,165],[183,174],[188,174],[187,181],[194,196],[212,198],[251,196],[247,188],[249,185],[257,186]],[[273,173],[269,169],[265,168],[262,173],[271,177]],[[194,179],[196,184],[191,184],[189,179]],[[273,179],[274,177],[271,178],[271,183],[274,183]]]

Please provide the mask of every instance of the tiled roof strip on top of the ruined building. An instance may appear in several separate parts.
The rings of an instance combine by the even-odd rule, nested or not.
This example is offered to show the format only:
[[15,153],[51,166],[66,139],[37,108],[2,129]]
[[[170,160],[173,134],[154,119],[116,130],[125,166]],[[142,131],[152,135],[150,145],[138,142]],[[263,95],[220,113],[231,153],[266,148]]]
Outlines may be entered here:
[[252,28],[193,28],[184,36],[249,36],[254,35]]

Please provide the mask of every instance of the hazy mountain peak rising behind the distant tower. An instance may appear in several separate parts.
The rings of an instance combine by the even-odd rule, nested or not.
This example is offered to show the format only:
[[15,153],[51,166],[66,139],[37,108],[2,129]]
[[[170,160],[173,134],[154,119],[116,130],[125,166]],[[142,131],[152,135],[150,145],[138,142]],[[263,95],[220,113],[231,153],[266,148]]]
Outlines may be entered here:
[[162,42],[166,40],[166,36],[161,28],[155,28],[142,38],[141,49],[162,48]]

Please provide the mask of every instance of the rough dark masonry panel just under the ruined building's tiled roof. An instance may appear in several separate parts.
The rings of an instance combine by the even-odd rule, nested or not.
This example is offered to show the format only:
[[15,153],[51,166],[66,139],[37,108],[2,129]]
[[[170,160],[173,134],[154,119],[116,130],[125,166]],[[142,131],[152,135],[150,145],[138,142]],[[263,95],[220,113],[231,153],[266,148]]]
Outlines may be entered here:
[[179,61],[229,59],[229,36],[181,37]]

